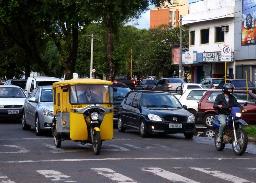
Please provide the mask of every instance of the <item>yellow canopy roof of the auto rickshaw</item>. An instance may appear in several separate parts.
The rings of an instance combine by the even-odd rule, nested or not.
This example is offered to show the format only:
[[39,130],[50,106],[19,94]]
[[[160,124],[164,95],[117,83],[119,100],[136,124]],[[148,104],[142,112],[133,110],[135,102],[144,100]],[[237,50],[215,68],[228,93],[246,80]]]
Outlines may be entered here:
[[113,84],[111,81],[101,80],[101,79],[90,79],[90,78],[84,78],[84,79],[70,79],[70,80],[64,80],[53,83],[52,87],[59,87],[59,86],[69,86],[69,85],[75,85],[75,84]]

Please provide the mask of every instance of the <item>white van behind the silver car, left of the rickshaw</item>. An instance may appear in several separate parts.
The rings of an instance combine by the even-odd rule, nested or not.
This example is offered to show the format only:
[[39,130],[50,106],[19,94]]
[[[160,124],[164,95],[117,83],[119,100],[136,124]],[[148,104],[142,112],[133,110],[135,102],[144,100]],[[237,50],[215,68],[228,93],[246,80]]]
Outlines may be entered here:
[[28,96],[29,93],[37,86],[52,85],[55,82],[61,81],[59,78],[46,77],[46,76],[35,76],[28,77],[25,87],[25,93]]

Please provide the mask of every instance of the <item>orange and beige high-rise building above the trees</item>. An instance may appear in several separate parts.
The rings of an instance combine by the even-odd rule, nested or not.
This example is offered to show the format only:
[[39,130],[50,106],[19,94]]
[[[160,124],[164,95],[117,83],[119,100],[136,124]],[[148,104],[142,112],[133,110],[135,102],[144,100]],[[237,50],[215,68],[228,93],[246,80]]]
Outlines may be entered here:
[[[171,3],[172,5],[166,3],[160,8],[150,8],[150,29],[156,28],[162,24],[178,27],[179,22],[177,21],[179,20],[179,16],[189,14],[188,5],[184,5],[188,3],[188,0],[172,0]],[[173,25],[175,22],[177,23]]]

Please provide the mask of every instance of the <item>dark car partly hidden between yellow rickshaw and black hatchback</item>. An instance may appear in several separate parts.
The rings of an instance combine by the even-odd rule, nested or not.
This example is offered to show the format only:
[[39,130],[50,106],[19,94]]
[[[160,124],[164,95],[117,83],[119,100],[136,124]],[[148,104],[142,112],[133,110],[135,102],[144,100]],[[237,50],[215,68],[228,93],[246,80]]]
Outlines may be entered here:
[[122,103],[125,95],[131,91],[131,89],[123,83],[113,83],[114,87],[114,124],[118,121],[119,106]]

